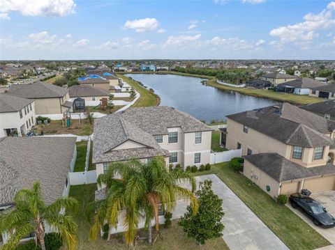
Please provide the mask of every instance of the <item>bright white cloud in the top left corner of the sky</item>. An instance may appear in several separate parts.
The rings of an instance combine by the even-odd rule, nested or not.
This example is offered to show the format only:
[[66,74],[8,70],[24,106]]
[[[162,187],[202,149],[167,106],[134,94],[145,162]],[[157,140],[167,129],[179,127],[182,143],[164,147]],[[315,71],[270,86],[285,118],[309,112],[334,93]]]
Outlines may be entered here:
[[1,0],[2,13],[19,12],[22,15],[61,17],[75,13],[73,0]]

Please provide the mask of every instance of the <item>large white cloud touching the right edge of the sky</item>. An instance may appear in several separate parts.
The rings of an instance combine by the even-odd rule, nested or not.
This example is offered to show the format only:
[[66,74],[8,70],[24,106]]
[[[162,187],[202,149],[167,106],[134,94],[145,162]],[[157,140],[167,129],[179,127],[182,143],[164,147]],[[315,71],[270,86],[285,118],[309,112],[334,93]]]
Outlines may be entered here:
[[305,15],[304,22],[272,29],[270,35],[279,38],[283,43],[313,40],[319,36],[316,31],[330,29],[335,25],[335,19],[332,18],[334,10],[335,1],[329,3],[327,8],[318,14],[308,13]]

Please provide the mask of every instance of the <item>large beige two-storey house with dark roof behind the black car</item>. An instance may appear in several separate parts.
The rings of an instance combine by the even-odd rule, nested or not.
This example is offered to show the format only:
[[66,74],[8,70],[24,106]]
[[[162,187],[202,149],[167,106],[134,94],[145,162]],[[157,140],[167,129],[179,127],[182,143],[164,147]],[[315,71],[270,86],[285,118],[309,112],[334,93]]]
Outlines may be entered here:
[[226,148],[242,148],[243,174],[271,197],[334,190],[334,121],[288,103],[227,121]]

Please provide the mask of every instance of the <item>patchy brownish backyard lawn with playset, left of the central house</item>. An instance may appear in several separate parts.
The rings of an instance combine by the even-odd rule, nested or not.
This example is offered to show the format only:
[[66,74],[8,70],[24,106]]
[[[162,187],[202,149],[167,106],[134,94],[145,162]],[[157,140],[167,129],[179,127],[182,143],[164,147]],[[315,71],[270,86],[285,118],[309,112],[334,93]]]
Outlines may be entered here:
[[44,134],[76,134],[76,135],[90,135],[93,133],[93,123],[89,123],[88,119],[71,120],[70,127],[62,125],[61,120],[52,120],[47,125],[38,125],[38,133],[41,131]]

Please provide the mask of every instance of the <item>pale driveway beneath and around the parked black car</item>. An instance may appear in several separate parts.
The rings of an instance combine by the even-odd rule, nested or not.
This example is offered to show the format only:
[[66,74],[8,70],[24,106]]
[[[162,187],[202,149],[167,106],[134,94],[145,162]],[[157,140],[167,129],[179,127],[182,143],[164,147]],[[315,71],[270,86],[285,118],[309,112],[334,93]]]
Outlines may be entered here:
[[[319,201],[330,214],[332,214],[335,217],[335,191],[327,191],[322,192],[318,194],[312,194],[312,198],[314,198],[316,201]],[[301,217],[301,219],[304,219],[312,228],[315,229],[320,235],[325,237],[330,243],[333,244],[332,247],[329,247],[329,249],[335,250],[335,228],[321,228],[320,226],[315,226],[313,224],[313,221],[307,217],[304,213],[302,213],[300,210],[292,208],[292,206],[288,203],[288,207],[295,212],[296,214]]]

